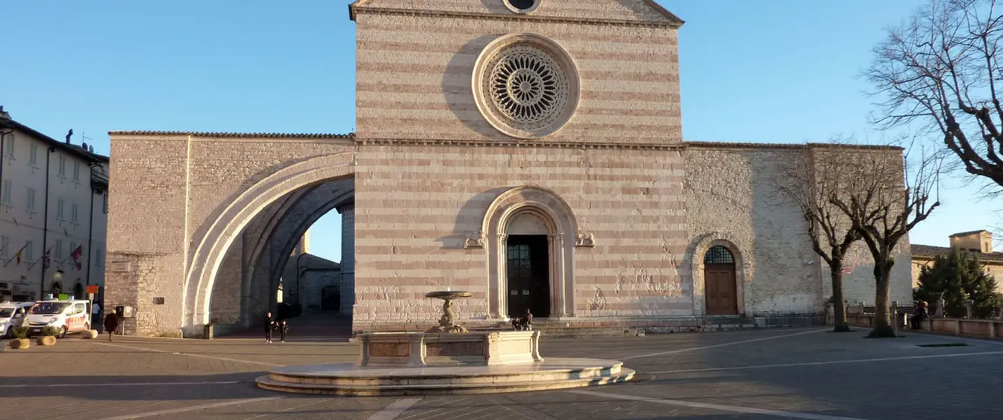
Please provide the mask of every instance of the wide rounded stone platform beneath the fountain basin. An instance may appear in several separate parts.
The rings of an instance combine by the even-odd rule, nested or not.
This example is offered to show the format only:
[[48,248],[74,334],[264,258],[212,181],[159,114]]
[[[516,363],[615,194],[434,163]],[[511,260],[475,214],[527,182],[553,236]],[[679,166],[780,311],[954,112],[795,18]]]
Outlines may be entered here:
[[619,360],[548,358],[492,366],[372,367],[352,362],[286,366],[257,379],[273,391],[325,395],[488,394],[629,381]]

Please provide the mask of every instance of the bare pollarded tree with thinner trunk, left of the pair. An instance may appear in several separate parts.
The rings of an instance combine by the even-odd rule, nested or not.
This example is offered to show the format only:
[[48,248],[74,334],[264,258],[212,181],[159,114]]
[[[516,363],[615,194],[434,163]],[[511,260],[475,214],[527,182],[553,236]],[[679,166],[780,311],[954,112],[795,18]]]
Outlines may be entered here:
[[[847,301],[843,293],[843,276],[847,274],[847,254],[861,234],[853,222],[833,204],[847,199],[852,186],[847,182],[848,171],[855,167],[852,159],[860,155],[859,148],[841,144],[806,144],[803,158],[793,159],[777,172],[776,192],[793,202],[808,224],[811,249],[828,265],[832,282],[834,332],[850,331],[847,323]],[[857,153],[852,151],[857,150]]]

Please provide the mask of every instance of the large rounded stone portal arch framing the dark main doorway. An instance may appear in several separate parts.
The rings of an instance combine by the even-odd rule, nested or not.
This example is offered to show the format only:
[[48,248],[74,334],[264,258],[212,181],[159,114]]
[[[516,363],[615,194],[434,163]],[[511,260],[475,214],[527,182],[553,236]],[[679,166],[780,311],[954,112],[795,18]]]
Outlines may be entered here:
[[533,185],[503,192],[484,212],[480,240],[484,242],[488,259],[488,313],[494,318],[507,318],[506,228],[509,222],[524,213],[533,214],[547,225],[551,318],[574,317],[574,247],[578,221],[571,206],[561,196]]

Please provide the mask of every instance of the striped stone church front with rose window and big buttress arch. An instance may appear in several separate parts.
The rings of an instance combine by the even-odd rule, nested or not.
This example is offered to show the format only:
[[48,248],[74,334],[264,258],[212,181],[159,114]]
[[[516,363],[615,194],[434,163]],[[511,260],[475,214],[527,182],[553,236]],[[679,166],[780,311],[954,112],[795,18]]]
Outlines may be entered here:
[[[447,289],[472,293],[468,327],[824,312],[827,269],[773,188],[815,146],[683,141],[683,22],[653,1],[360,0],[350,17],[356,133],[110,133],[106,304],[136,308],[132,332],[250,325],[331,209],[354,331],[434,325],[424,295]],[[848,300],[873,302],[855,253]],[[911,301],[908,265],[892,299]]]

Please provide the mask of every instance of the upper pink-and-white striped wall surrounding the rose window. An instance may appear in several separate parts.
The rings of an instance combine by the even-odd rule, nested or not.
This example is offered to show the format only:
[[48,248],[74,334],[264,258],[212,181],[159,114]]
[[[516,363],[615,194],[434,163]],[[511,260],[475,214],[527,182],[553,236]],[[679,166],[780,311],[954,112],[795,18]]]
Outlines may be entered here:
[[[373,6],[382,7],[381,3]],[[400,3],[393,1],[397,6],[388,7],[405,7]],[[480,2],[453,1],[451,5],[459,7],[460,3],[483,7]],[[560,8],[542,6],[540,13],[545,9],[557,14],[600,13],[604,7],[623,9],[623,3],[564,2]],[[504,7],[500,1],[497,6]],[[448,7],[436,5],[432,10]],[[512,15],[508,10],[504,13]],[[491,127],[478,111],[471,75],[481,50],[498,36],[534,32],[568,51],[581,80],[576,115],[547,143],[682,140],[675,29],[363,12],[356,16],[356,27],[360,139],[511,143],[513,139]]]

